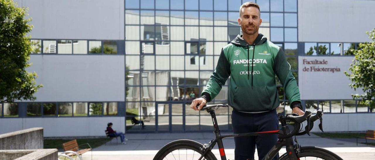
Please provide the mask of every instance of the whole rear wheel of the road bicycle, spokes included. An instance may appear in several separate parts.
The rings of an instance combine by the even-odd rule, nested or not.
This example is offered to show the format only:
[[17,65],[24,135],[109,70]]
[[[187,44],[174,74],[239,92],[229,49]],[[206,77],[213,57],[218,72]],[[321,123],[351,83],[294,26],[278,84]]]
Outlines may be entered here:
[[[198,160],[203,154],[200,149],[203,147],[202,144],[189,139],[181,139],[170,142],[162,147],[159,152],[156,153],[153,160]],[[209,151],[202,160],[217,160],[214,154]]]

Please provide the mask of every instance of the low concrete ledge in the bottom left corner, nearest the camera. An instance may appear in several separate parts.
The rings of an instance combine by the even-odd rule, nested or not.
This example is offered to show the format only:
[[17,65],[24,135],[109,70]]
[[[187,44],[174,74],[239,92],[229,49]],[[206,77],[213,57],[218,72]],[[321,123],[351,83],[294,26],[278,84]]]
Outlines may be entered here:
[[57,149],[40,150],[0,150],[2,160],[55,160]]

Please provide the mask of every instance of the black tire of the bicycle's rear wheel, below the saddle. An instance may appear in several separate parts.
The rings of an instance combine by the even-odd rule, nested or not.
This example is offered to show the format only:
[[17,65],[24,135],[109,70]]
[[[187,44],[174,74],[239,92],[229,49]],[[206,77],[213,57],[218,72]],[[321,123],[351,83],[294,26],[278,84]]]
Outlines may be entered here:
[[[201,155],[203,154],[200,151],[200,149],[202,147],[203,147],[203,145],[201,143],[196,142],[196,141],[192,141],[192,140],[189,140],[189,139],[180,139],[180,140],[172,141],[172,142],[169,142],[168,144],[166,144],[164,147],[162,147],[156,153],[153,160],[163,160],[166,156],[170,155],[170,153],[172,153],[172,151],[175,151],[175,150],[180,151],[181,149],[186,149],[186,156],[188,155],[187,149],[193,150],[194,151],[193,158],[199,159],[199,157],[201,157]],[[184,150],[182,150],[181,152],[183,152],[183,151]],[[195,154],[195,152],[198,153],[198,154]],[[180,156],[180,155],[178,155],[178,156]],[[173,157],[174,157],[174,155],[173,155]],[[203,159],[205,159],[205,160],[217,160],[216,157],[214,156],[214,154],[211,151],[209,151]]]

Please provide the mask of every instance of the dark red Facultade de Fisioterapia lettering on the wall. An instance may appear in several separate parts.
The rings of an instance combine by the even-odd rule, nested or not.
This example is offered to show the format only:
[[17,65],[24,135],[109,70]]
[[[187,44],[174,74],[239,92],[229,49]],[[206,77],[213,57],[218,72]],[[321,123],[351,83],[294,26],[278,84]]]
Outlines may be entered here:
[[[328,61],[324,60],[319,61],[315,59],[314,61],[308,61],[306,59],[303,59],[303,64],[304,65],[328,65]],[[320,67],[320,66],[309,66],[309,67],[304,67],[302,69],[304,72],[340,72],[340,68],[335,67],[335,68],[327,68],[327,67]]]

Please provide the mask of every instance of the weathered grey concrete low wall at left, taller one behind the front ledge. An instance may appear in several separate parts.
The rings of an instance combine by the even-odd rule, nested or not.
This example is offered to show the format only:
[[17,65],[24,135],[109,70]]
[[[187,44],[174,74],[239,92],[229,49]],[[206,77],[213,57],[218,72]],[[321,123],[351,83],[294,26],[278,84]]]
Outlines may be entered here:
[[[9,124],[18,125],[1,125],[1,133],[7,132]],[[43,149],[43,128],[30,128],[0,135],[0,150],[27,149]]]

